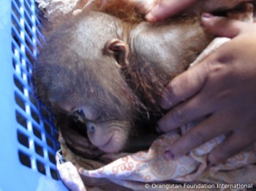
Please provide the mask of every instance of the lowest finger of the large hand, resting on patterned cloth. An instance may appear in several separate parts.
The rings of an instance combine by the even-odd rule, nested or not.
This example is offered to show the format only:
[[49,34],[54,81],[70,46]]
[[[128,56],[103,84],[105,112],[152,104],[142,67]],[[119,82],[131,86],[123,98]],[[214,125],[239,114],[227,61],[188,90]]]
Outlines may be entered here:
[[255,127],[236,131],[208,155],[208,161],[211,164],[222,163],[254,142]]

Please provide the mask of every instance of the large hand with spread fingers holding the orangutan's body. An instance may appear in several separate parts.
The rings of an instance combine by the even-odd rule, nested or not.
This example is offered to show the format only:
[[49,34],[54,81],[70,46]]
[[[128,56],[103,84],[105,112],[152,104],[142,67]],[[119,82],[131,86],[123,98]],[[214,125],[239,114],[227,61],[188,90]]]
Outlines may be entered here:
[[167,85],[161,105],[170,111],[158,125],[168,132],[206,117],[171,144],[166,157],[184,155],[225,134],[208,156],[217,164],[256,141],[256,26],[209,14],[203,14],[202,24],[233,39]]

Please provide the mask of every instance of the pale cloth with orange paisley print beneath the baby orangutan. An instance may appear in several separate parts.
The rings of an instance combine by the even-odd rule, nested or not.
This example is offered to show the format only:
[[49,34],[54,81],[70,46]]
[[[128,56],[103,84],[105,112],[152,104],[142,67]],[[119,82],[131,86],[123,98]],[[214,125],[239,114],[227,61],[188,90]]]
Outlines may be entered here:
[[[61,0],[54,1],[59,2]],[[246,22],[253,22],[253,10],[252,4],[246,4],[244,12],[229,12],[229,16]],[[214,39],[195,62],[191,64],[191,67],[203,61],[211,52],[214,52],[229,40],[227,38]],[[222,143],[225,139],[224,135],[193,149],[187,155],[173,160],[165,160],[164,154],[167,146],[187,133],[196,124],[197,122],[193,122],[181,127],[181,135],[176,131],[172,131],[159,136],[148,151],[134,154],[106,154],[99,161],[87,160],[74,155],[67,148],[64,139],[60,135],[61,152],[65,160],[69,162],[61,163],[62,156],[58,154],[56,155],[57,168],[61,179],[70,190],[86,190],[86,188],[91,187],[108,188],[108,190],[124,190],[124,187],[132,190],[166,190],[163,187],[150,187],[146,183],[151,185],[153,183],[155,185],[169,184],[173,185],[173,188],[179,187],[179,183],[207,183],[215,185],[214,188],[217,188],[217,184],[222,183],[233,184],[234,188],[238,184],[243,184],[247,188],[251,188],[252,184],[256,184],[256,144],[238,153],[238,155],[230,157],[225,163],[208,166],[208,154]],[[105,165],[106,161],[109,160],[113,162]],[[210,187],[203,187],[203,190],[207,188]],[[184,190],[186,189],[184,188]]]

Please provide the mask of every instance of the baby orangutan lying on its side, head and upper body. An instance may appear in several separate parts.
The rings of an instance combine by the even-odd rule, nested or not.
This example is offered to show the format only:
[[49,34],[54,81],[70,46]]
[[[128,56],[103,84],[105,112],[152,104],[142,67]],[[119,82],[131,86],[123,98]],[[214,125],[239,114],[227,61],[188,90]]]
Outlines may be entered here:
[[211,39],[197,17],[132,24],[83,13],[47,36],[34,86],[78,155],[145,149],[158,136],[149,126],[165,112],[157,104],[163,88]]

